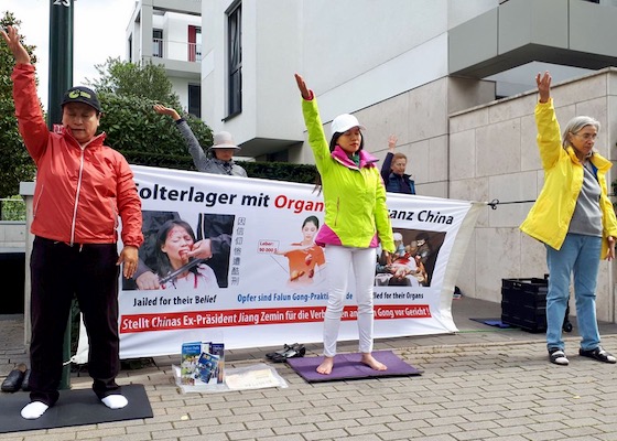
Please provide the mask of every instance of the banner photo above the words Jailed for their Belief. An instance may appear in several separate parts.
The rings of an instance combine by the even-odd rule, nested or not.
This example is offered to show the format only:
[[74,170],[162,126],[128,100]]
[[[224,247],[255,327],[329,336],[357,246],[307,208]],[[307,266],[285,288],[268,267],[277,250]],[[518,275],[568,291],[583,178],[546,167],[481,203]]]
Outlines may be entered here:
[[[122,290],[197,289],[228,287],[235,215],[142,211],[144,243],[132,279]],[[158,283],[140,283],[156,278]]]

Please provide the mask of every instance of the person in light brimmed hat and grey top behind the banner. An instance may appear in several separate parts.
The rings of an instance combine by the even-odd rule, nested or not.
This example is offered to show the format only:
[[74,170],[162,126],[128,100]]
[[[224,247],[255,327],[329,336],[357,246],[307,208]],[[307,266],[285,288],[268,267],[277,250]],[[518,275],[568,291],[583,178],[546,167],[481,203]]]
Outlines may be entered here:
[[193,163],[198,171],[247,178],[246,170],[234,162],[234,154],[240,148],[236,146],[229,132],[221,131],[215,133],[213,146],[208,150],[208,154],[206,154],[186,120],[175,109],[158,104],[154,106],[154,111],[159,115],[167,115],[175,121],[175,127],[177,127],[186,141],[188,153],[193,157]]

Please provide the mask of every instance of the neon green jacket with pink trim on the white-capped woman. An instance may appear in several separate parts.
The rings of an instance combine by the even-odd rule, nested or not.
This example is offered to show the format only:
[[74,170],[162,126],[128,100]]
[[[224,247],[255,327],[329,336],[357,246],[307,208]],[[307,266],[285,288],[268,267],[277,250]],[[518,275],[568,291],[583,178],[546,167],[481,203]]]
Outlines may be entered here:
[[325,219],[315,243],[375,248],[381,241],[385,250],[393,252],[386,187],[375,166],[377,158],[360,150],[358,168],[338,146],[331,153],[316,99],[303,99],[302,111],[324,192]]

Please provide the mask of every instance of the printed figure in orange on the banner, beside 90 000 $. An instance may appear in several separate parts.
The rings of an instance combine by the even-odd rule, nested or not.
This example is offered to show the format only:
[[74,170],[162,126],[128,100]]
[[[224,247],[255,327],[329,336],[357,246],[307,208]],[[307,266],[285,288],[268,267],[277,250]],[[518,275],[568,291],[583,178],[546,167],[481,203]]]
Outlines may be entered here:
[[275,254],[289,259],[290,283],[313,283],[315,273],[325,265],[324,250],[315,244],[315,235],[318,229],[320,219],[316,216],[306,217],[302,223],[302,241],[291,244],[290,248],[275,251]]

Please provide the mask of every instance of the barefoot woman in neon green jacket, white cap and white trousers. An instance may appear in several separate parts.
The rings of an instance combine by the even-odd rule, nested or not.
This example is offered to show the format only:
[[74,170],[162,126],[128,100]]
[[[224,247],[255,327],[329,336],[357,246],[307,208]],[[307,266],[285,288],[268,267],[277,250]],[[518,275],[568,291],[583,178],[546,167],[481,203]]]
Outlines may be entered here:
[[351,268],[356,277],[359,352],[361,362],[372,369],[388,367],[372,356],[374,276],[377,247],[394,251],[392,226],[386,206],[386,189],[377,159],[364,150],[356,117],[339,115],[332,121],[331,142],[326,140],[317,103],[302,76],[295,74],[302,95],[302,110],[308,143],[322,182],[325,220],[315,243],[325,246],[328,301],[324,318],[324,361],[317,372],[329,375],[334,368],[336,342]]

